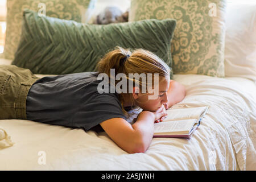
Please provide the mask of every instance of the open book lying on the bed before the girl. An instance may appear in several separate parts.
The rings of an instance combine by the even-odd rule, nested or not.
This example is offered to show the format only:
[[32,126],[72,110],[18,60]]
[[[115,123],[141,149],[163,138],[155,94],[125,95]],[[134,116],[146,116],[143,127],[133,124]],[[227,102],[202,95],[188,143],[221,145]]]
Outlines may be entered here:
[[209,106],[168,109],[162,122],[154,123],[154,137],[189,138]]

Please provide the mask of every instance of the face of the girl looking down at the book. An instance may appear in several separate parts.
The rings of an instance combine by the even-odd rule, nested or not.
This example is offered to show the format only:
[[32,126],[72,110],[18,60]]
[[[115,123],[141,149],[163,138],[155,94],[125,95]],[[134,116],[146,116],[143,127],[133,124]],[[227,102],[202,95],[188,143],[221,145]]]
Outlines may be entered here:
[[[168,102],[167,91],[170,86],[170,78],[163,79],[159,82],[159,92],[155,90],[154,93],[150,94],[134,94],[136,105],[141,107],[143,110],[148,111],[156,111],[158,110],[163,104]],[[152,95],[158,96],[156,99],[148,99],[148,96]]]

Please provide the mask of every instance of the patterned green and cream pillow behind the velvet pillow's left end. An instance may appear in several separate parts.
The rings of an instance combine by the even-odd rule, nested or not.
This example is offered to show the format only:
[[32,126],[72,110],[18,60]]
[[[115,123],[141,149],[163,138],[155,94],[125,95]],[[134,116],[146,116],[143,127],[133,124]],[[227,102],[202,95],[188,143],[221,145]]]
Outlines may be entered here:
[[22,13],[31,9],[39,15],[83,22],[90,0],[7,0],[4,57],[14,59],[22,30]]

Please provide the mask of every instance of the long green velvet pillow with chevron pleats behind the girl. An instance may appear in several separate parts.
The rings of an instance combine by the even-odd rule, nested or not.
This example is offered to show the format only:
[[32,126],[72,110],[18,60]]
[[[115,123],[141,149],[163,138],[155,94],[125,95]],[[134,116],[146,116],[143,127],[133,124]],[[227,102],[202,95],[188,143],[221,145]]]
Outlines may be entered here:
[[39,16],[31,10],[25,10],[23,16],[22,36],[12,64],[35,74],[95,71],[100,58],[116,46],[147,49],[172,67],[174,19],[96,25]]

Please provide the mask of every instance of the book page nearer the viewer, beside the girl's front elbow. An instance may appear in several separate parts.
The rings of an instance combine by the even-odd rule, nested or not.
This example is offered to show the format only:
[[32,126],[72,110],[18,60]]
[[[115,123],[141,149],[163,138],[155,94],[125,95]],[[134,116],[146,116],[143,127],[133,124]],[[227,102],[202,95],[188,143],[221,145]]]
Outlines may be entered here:
[[196,119],[185,119],[182,121],[167,121],[154,124],[154,134],[157,133],[176,133],[180,134],[189,133],[196,123]]

